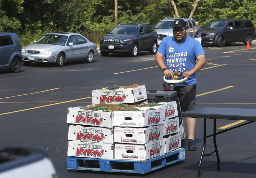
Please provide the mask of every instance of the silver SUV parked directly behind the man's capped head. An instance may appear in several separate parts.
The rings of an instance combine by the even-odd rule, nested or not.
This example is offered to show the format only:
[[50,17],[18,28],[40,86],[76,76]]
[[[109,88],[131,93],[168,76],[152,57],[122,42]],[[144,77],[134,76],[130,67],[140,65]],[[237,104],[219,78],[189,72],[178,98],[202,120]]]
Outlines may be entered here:
[[[173,36],[172,27],[173,22],[177,18],[165,18],[163,20],[160,20],[156,26],[154,27],[154,30],[157,33],[157,45],[160,45],[161,41],[166,36]],[[192,18],[181,18],[185,20],[187,27],[188,27],[188,36],[191,36],[190,30],[196,25],[196,20]]]

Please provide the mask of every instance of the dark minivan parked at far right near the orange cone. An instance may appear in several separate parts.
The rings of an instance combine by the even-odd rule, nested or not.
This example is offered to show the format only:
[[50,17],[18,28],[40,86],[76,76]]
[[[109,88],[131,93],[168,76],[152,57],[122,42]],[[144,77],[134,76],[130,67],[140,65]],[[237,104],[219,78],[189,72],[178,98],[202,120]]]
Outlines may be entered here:
[[207,22],[201,29],[202,44],[224,44],[244,42],[252,44],[256,29],[251,20],[218,19]]

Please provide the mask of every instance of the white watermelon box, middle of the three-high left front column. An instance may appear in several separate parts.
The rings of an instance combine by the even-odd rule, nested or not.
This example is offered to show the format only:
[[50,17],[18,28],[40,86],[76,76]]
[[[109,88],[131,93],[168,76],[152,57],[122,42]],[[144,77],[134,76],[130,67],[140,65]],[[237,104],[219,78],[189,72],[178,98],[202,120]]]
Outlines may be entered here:
[[82,142],[102,142],[113,144],[113,129],[102,127],[84,127],[81,125],[68,126],[68,140]]

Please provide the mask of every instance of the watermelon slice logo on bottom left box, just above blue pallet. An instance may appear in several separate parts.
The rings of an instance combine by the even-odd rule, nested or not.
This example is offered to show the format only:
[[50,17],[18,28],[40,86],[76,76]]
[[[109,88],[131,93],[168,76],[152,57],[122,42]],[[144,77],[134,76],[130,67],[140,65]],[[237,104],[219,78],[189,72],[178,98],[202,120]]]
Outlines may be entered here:
[[76,148],[76,156],[84,155],[99,158],[104,154],[104,150],[100,145],[84,145],[78,144]]

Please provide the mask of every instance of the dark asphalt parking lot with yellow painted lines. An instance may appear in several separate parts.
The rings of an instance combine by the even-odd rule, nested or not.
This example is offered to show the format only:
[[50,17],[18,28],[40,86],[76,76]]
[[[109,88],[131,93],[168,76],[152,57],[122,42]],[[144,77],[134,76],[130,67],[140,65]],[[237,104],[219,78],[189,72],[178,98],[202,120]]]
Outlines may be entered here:
[[[197,108],[256,108],[256,44],[250,47],[246,50],[243,43],[221,48],[204,46],[207,63],[197,73]],[[200,119],[195,132],[198,149],[186,148],[186,159],[178,164],[145,175],[66,169],[67,108],[90,104],[93,89],[111,85],[145,84],[148,90],[162,90],[163,73],[156,67],[154,58],[146,51],[137,57],[98,54],[93,63],[68,63],[63,67],[32,64],[22,66],[19,73],[1,71],[0,145],[39,146],[48,150],[58,176],[65,178],[197,177],[203,138]],[[227,128],[234,122],[217,121],[217,127]],[[220,171],[215,155],[205,157],[201,177],[254,178],[255,126],[252,123],[218,135]],[[206,153],[212,152],[212,147],[209,142]]]

